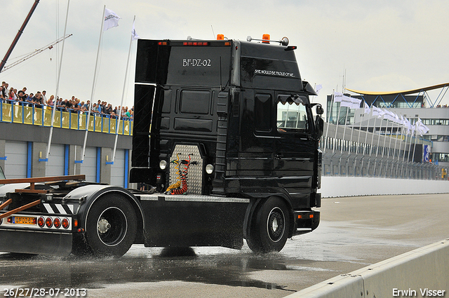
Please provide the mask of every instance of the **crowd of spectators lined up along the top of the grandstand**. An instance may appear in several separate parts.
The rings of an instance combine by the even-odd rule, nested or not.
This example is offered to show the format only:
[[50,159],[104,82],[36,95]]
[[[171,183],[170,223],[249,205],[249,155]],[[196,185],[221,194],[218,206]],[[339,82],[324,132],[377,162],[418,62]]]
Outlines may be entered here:
[[22,90],[17,90],[13,87],[10,88],[9,84],[4,81],[1,83],[0,100],[4,103],[21,104],[28,107],[34,106],[42,109],[53,109],[53,107],[56,107],[57,111],[69,111],[77,114],[88,113],[91,105],[91,114],[110,118],[119,118],[119,115],[121,115],[121,118],[132,119],[134,115],[134,107],[130,109],[120,106],[112,108],[112,104],[108,104],[105,101],[98,100],[98,102],[91,104],[90,100],[86,103],[80,102],[74,96],[70,100],[64,100],[62,97],[55,98],[54,95],[50,95],[47,99],[46,90],[42,92],[37,91],[35,94],[27,93],[26,87],[22,88]]

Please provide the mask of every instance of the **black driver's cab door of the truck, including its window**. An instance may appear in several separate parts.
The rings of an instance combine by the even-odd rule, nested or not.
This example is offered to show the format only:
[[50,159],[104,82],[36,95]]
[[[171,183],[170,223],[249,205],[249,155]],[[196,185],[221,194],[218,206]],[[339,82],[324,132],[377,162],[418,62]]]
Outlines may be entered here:
[[[314,177],[316,141],[304,95],[276,93],[276,138],[273,175],[295,203],[307,205]],[[299,207],[300,205],[297,205]],[[307,206],[309,207],[309,206]]]

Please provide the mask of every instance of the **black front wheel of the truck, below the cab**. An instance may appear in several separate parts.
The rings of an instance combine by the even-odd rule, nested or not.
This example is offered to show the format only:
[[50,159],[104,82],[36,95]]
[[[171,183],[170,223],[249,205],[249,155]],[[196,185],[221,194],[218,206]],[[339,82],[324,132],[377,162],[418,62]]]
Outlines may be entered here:
[[279,252],[286,245],[290,222],[286,202],[272,196],[257,206],[246,243],[253,252]]

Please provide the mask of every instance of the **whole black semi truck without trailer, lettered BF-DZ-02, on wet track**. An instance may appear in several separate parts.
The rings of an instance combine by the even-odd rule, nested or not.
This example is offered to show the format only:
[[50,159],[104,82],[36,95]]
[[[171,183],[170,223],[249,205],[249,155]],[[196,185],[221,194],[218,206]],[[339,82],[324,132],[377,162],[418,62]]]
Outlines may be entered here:
[[[0,251],[124,255],[146,247],[280,251],[321,206],[323,108],[295,46],[139,39],[130,182],[0,180]],[[316,117],[312,107],[316,106]]]

